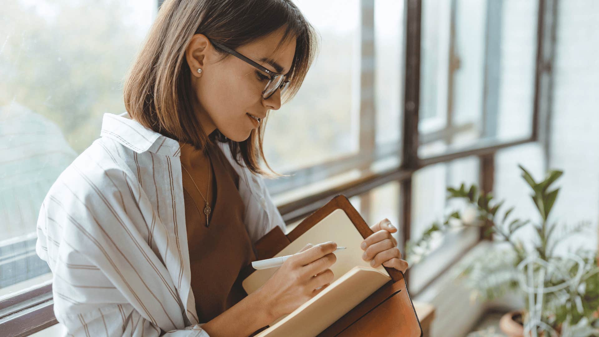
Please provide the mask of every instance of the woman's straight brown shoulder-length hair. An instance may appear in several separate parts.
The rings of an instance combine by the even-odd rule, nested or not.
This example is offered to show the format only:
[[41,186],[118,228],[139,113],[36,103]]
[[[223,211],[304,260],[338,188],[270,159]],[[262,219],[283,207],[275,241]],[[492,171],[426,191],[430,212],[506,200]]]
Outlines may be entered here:
[[[210,137],[204,133],[193,113],[190,69],[184,53],[194,34],[204,34],[235,49],[282,26],[286,26],[286,31],[277,49],[296,39],[295,56],[287,74],[289,88],[282,97],[286,103],[304,81],[318,47],[315,29],[291,0],[165,1],[126,74],[125,109],[144,127],[198,150],[205,151],[207,145],[212,145],[211,138],[228,142],[238,164],[242,165],[241,157],[245,166],[256,174],[281,176],[268,166],[262,151],[267,118],[243,142],[227,139],[218,130]],[[229,56],[222,52],[220,61]],[[262,170],[260,161],[274,174]]]

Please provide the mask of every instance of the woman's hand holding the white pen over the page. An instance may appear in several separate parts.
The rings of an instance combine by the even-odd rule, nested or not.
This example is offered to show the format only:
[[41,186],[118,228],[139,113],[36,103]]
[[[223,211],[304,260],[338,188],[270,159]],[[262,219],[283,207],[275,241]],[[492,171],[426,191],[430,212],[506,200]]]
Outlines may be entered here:
[[333,254],[336,248],[337,243],[332,241],[316,246],[308,243],[257,290],[272,321],[291,314],[331,284],[334,275],[329,267],[337,261]]

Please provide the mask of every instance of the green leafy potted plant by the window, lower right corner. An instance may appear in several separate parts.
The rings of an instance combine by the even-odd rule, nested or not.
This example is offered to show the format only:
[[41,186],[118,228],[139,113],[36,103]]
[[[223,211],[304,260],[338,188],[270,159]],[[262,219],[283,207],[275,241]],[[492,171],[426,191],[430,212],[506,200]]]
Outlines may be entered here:
[[[460,279],[475,298],[492,300],[507,293],[522,296],[525,307],[502,319],[504,333],[524,336],[527,330],[531,335],[539,332],[545,336],[599,336],[597,251],[577,249],[564,253],[564,249],[558,249],[566,237],[582,233],[589,224],[558,225],[549,217],[559,193],[553,184],[562,171],[550,170],[536,182],[524,167],[519,167],[530,186],[538,220],[516,218],[514,207],[505,207],[503,200],[495,200],[476,185],[462,183],[459,188],[447,188],[448,199],[465,201],[467,207],[449,210],[420,239],[408,242],[407,260],[410,265],[418,263],[431,252],[431,242],[448,231],[482,227],[484,236],[494,239],[491,251],[474,258]],[[522,237],[518,232],[524,228],[533,234]],[[508,330],[510,326],[512,329]]]

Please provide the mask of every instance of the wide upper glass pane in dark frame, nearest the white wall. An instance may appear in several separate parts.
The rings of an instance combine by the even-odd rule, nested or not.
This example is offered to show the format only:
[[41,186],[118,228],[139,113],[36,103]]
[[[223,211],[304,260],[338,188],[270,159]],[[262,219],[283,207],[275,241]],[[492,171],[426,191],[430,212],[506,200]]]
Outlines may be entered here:
[[534,0],[423,1],[420,138],[444,146],[422,157],[531,136],[536,22]]

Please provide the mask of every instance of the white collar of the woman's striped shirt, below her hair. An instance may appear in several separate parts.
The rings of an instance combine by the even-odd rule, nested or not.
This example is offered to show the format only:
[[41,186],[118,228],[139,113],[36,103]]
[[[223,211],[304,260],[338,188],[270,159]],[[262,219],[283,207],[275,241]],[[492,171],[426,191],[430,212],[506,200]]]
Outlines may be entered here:
[[131,119],[128,112],[120,115],[104,113],[100,136],[113,139],[138,154],[150,151],[170,157],[179,157],[181,155],[180,145],[177,140],[144,127],[139,122]]

